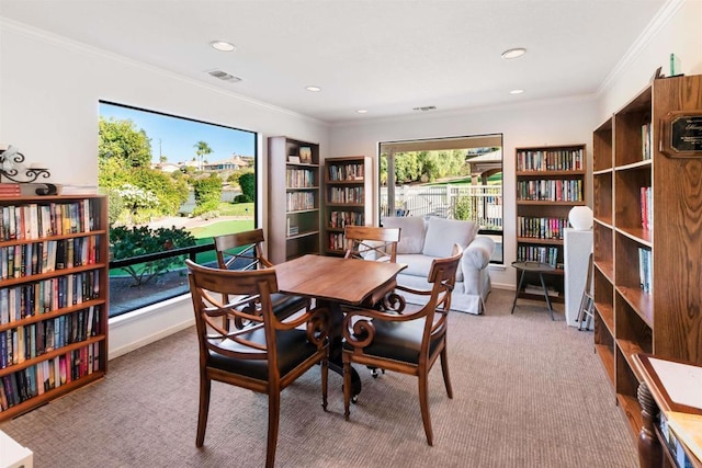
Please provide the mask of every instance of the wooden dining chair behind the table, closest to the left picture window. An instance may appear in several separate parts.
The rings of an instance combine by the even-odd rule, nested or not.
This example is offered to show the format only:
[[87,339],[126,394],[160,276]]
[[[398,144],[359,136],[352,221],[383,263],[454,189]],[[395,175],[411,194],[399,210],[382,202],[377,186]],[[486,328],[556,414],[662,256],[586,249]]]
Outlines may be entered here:
[[[273,266],[263,255],[263,229],[252,229],[244,232],[233,232],[215,236],[215,253],[217,264],[223,270],[260,270]],[[274,293],[271,296],[273,313],[279,319],[285,319],[303,309],[309,309],[307,297]]]

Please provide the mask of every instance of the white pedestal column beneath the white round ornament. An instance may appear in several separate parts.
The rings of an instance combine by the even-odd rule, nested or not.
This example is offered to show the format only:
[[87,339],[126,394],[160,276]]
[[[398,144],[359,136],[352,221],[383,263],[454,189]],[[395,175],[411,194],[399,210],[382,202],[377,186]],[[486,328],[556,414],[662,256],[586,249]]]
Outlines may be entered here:
[[[582,299],[585,281],[588,274],[588,258],[592,252],[592,230],[578,231],[566,228],[564,233],[565,316],[566,323],[577,327],[578,307]],[[590,326],[591,327],[591,326]]]

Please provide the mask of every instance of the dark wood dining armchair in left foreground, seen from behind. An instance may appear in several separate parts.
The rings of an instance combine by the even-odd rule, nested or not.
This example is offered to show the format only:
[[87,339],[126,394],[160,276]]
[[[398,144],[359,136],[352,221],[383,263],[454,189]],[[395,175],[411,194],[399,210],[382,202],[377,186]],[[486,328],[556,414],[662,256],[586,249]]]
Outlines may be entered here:
[[[327,410],[328,310],[315,308],[281,321],[273,313],[271,301],[271,295],[278,290],[275,270],[227,271],[190,260],[185,263],[200,343],[195,445],[202,447],[205,441],[213,380],[265,393],[269,400],[265,466],[272,468],[281,391],[317,364],[321,364],[321,407]],[[223,296],[236,299],[223,305]],[[220,326],[225,316],[246,326],[226,330]]]

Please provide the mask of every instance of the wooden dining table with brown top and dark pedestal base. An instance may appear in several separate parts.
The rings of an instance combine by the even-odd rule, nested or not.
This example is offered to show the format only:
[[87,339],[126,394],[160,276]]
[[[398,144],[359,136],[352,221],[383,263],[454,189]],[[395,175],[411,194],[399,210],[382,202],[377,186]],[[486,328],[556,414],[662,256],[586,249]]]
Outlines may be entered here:
[[[281,293],[314,298],[318,306],[331,313],[329,333],[329,368],[343,374],[341,361],[341,307],[373,307],[397,286],[396,277],[407,265],[371,262],[339,256],[304,255],[275,265]],[[352,395],[361,391],[361,379],[353,370]]]

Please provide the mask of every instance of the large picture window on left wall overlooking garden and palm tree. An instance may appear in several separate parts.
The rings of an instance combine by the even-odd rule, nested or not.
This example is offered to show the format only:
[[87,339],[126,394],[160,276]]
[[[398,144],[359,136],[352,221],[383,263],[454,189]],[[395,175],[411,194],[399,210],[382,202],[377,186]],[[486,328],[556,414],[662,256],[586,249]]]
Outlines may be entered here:
[[[100,102],[99,133],[99,185],[110,197],[114,317],[188,292],[183,260],[195,253],[177,252],[256,227],[258,138],[111,102]],[[127,264],[154,253],[162,255]],[[214,263],[214,251],[196,253],[195,260]]]

